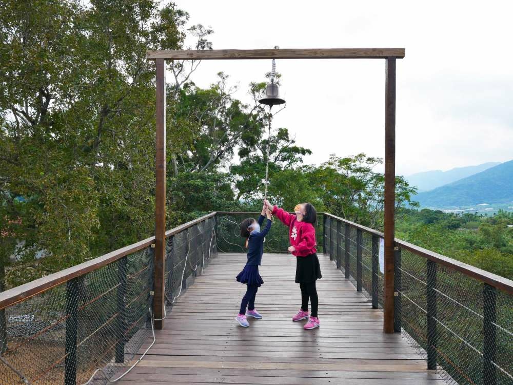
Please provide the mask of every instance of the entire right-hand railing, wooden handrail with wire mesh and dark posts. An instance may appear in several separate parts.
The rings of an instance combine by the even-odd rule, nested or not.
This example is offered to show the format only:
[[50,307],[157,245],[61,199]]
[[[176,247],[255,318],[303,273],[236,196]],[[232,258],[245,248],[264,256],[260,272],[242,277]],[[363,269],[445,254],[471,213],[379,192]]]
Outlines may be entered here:
[[[323,239],[345,277],[383,308],[383,234],[325,213]],[[395,243],[394,330],[448,383],[513,383],[513,281]]]

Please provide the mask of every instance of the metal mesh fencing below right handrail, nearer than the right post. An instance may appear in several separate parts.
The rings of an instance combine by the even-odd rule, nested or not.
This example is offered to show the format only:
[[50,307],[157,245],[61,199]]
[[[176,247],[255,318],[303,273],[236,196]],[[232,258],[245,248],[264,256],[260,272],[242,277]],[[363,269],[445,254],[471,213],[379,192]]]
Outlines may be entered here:
[[513,383],[511,295],[406,249],[400,266],[396,322],[429,367],[448,383]]

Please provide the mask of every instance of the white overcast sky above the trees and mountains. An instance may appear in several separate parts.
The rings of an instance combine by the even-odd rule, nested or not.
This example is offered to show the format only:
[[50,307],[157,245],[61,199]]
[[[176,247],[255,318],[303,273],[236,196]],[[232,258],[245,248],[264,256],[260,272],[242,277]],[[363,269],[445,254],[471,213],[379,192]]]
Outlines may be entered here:
[[[397,63],[397,173],[513,159],[512,2],[175,0],[211,26],[214,49],[406,48]],[[421,5],[422,4],[422,5]],[[204,61],[239,85],[264,81],[268,60]],[[384,60],[279,60],[287,127],[309,164],[365,152],[384,157]]]

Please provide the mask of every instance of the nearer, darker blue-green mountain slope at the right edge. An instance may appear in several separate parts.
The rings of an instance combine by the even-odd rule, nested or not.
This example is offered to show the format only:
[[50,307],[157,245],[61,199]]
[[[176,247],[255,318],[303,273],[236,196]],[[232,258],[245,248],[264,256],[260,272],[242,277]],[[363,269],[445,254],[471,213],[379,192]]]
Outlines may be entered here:
[[513,160],[413,197],[421,207],[513,202]]

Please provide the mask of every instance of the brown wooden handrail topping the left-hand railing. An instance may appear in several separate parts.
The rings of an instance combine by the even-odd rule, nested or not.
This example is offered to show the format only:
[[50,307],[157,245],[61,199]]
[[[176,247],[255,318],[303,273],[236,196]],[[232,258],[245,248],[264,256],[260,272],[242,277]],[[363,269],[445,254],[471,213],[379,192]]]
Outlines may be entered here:
[[[183,225],[174,227],[166,232],[166,237],[180,233],[181,231],[197,224],[205,219],[215,216],[215,211],[193,221],[184,223]],[[24,301],[37,294],[44,293],[52,287],[63,284],[73,278],[83,276],[87,273],[97,270],[112,262],[115,262],[129,254],[135,253],[145,247],[150,246],[155,242],[155,237],[150,237],[145,240],[133,243],[131,245],[119,248],[113,252],[91,259],[89,261],[80,263],[76,266],[69,267],[60,272],[50,274],[46,277],[27,282],[23,285],[13,287],[5,292],[0,293],[0,310],[5,309],[7,306],[13,305],[17,302]]]

